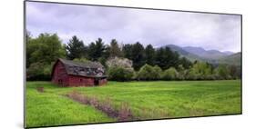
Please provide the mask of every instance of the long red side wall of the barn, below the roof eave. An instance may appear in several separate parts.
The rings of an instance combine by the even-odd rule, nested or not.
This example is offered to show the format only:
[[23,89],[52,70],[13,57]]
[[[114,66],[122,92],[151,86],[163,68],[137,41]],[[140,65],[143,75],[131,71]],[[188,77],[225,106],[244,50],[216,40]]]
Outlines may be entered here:
[[70,86],[92,86],[94,85],[94,78],[69,74],[68,82]]

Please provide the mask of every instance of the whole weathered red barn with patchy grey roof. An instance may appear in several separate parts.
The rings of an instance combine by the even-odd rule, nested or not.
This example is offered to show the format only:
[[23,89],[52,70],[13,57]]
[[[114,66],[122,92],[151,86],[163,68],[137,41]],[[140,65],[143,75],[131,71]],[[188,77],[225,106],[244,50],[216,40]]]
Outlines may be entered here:
[[74,62],[58,59],[53,66],[52,82],[61,86],[93,86],[107,84],[103,65],[97,62]]

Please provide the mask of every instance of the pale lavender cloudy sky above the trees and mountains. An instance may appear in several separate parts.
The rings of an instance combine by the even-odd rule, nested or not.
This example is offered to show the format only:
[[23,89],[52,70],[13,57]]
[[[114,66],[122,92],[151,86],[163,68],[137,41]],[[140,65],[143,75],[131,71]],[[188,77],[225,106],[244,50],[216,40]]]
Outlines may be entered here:
[[64,44],[77,35],[85,44],[101,37],[122,44],[200,46],[241,51],[241,16],[89,5],[26,2],[26,30],[56,33]]

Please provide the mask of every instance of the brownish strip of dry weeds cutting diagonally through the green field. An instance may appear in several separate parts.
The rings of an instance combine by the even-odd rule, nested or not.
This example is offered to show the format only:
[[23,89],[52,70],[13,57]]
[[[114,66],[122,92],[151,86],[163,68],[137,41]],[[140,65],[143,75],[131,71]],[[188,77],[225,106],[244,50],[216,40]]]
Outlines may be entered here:
[[121,108],[116,110],[111,105],[111,100],[108,98],[104,102],[99,102],[96,97],[88,97],[77,92],[72,92],[66,94],[68,98],[79,102],[80,104],[88,104],[94,106],[97,110],[108,114],[109,117],[117,118],[118,121],[131,121],[133,120],[133,115],[128,107],[128,104],[121,104]]

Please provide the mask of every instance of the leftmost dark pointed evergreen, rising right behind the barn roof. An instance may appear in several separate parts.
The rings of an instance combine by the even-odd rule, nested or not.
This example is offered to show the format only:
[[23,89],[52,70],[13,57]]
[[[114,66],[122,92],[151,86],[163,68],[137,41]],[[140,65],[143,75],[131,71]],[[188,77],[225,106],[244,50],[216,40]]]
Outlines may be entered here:
[[76,35],[69,40],[66,45],[67,58],[73,60],[75,58],[86,57],[87,48],[83,41],[79,40]]

